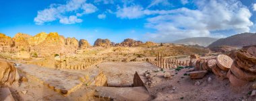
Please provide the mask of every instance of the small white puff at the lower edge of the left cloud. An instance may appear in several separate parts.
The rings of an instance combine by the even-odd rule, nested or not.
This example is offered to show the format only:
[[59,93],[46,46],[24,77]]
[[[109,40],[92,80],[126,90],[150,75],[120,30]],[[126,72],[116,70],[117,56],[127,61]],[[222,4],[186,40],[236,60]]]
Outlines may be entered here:
[[69,16],[69,18],[67,18],[67,17],[61,18],[59,20],[59,22],[61,24],[75,24],[75,23],[81,23],[81,22],[83,22],[83,20],[77,19],[77,16],[75,16],[75,15],[71,15],[71,16]]

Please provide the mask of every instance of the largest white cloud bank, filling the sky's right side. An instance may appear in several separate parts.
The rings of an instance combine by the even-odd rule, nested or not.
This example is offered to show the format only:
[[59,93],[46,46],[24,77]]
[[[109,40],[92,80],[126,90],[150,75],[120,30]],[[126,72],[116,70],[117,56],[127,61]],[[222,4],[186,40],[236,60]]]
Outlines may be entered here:
[[[170,42],[177,38],[188,37],[223,37],[214,32],[234,30],[249,32],[253,26],[251,13],[240,1],[211,0],[197,2],[199,9],[179,8],[169,11],[149,11],[158,14],[148,18],[146,28],[153,28],[154,33],[148,33],[149,40]],[[163,15],[160,12],[165,13]],[[160,15],[159,15],[160,14]]]

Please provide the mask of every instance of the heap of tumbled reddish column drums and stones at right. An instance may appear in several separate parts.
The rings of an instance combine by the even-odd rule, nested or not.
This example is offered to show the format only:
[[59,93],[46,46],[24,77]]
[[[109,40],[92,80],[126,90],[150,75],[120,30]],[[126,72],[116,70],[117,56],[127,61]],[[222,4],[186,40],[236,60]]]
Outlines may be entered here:
[[189,65],[195,68],[195,71],[189,72],[191,79],[203,77],[205,71],[212,71],[221,79],[228,78],[232,86],[244,86],[248,81],[255,81],[255,47],[243,48],[232,54],[234,59],[227,55],[218,55],[216,59],[200,59],[191,55]]

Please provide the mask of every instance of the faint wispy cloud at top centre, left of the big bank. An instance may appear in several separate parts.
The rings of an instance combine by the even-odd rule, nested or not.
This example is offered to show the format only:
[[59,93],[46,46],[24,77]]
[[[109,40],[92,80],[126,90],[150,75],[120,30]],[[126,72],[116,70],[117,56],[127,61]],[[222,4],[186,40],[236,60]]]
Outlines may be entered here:
[[139,5],[132,5],[130,7],[119,8],[117,11],[118,18],[135,19],[143,16],[143,7]]

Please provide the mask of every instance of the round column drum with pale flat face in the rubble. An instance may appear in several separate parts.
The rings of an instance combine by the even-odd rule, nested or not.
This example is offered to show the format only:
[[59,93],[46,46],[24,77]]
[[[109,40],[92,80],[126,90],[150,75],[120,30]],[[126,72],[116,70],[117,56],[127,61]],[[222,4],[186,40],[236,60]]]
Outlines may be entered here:
[[233,60],[227,55],[218,55],[217,57],[217,65],[223,71],[228,71],[233,63]]

